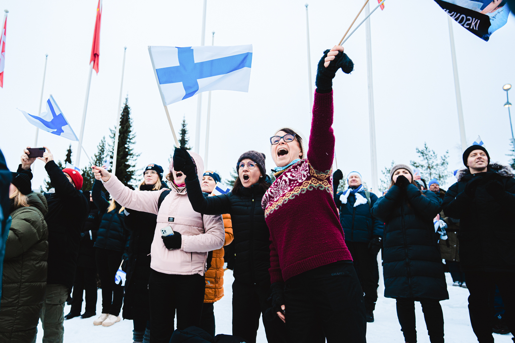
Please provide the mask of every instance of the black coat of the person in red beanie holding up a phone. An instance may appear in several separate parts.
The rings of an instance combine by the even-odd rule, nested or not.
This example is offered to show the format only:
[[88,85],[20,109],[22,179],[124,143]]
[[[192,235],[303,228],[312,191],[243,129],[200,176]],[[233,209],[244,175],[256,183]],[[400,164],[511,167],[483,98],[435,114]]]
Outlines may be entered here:
[[[77,269],[80,230],[90,211],[89,199],[75,189],[52,160],[45,165],[55,193],[45,193],[48,212],[47,284],[63,284],[71,292]],[[20,169],[19,169],[20,172]]]

